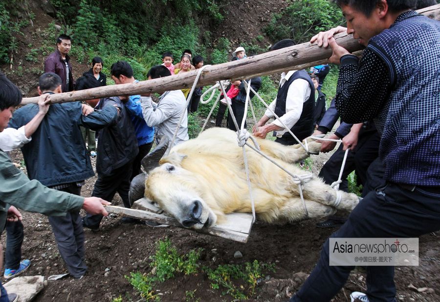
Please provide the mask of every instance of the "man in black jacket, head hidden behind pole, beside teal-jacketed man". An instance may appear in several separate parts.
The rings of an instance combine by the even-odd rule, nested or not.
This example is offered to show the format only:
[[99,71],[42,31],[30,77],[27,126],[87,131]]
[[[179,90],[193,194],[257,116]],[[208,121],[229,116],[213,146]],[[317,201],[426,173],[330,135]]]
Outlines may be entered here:
[[[116,192],[119,193],[124,207],[130,208],[128,193],[130,177],[132,175],[133,160],[138,153],[137,139],[128,109],[119,97],[107,97],[99,100],[96,110],[117,108],[119,116],[110,126],[102,128],[88,124],[90,129],[99,130],[98,156],[96,158],[96,172],[98,180],[93,188],[92,196],[112,200]],[[102,128],[102,129],[100,129]],[[102,220],[102,215],[87,215],[83,225],[89,229],[97,230]],[[136,220],[123,217],[122,222],[131,223]]]

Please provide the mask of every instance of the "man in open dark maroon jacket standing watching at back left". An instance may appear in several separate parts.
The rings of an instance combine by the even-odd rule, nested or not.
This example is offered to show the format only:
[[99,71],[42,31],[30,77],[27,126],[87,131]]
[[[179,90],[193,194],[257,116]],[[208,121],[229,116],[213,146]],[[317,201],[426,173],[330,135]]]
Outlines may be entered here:
[[44,72],[53,72],[61,78],[61,90],[63,93],[73,91],[72,65],[68,55],[71,39],[67,35],[57,38],[57,50],[49,54],[44,61]]

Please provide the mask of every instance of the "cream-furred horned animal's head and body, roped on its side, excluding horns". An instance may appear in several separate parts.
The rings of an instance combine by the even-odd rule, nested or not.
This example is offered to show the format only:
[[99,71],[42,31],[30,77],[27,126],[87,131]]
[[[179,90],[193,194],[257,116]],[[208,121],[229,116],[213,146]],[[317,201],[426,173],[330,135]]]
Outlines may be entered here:
[[[308,157],[300,145],[257,141],[262,152],[293,175],[306,173],[294,164]],[[318,153],[321,144],[311,141],[308,146],[311,153]],[[292,178],[255,151],[246,149],[259,219],[275,222],[326,217],[336,209],[352,210],[359,201],[355,194],[340,192],[342,201],[334,208],[336,191],[314,177],[303,188],[307,216],[298,185]],[[252,212],[242,148],[235,132],[224,128],[206,130],[197,139],[173,147],[159,163],[148,175],[145,197],[158,203],[182,225],[200,229],[221,222],[226,213]],[[197,223],[185,225],[194,216]]]

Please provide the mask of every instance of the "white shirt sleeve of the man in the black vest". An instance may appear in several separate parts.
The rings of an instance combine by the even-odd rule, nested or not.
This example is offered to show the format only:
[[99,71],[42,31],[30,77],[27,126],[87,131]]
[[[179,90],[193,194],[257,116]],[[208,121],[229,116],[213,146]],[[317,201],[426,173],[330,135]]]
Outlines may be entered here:
[[[292,128],[299,120],[303,112],[303,104],[310,97],[310,85],[304,79],[297,79],[290,84],[286,96],[286,114],[280,119],[286,124],[287,128]],[[273,124],[284,128],[279,120],[274,120]]]

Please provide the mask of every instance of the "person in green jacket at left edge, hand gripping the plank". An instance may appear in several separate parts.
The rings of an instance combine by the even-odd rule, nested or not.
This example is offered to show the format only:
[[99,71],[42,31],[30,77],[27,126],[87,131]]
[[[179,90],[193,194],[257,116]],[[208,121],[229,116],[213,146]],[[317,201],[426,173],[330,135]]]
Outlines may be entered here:
[[[22,101],[20,90],[0,72],[0,132],[8,125],[15,106]],[[90,214],[109,215],[103,205],[109,202],[97,197],[82,197],[43,186],[37,180],[29,180],[0,149],[0,231],[6,219],[21,219],[18,209],[42,213],[50,216],[63,216],[73,209],[85,209]],[[10,206],[14,206],[10,209]],[[3,266],[3,251],[0,245],[0,270]],[[6,291],[0,284],[1,295]]]

